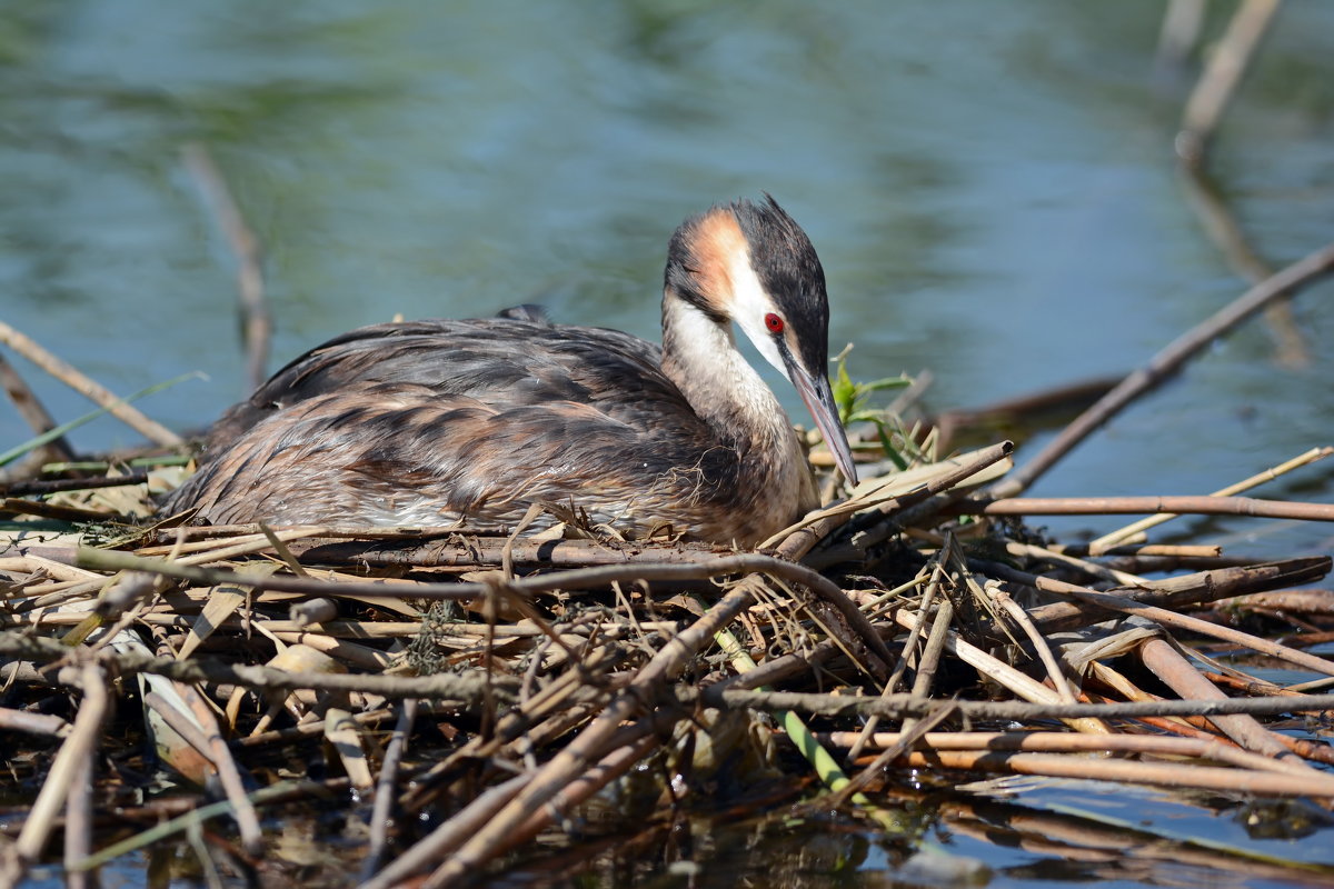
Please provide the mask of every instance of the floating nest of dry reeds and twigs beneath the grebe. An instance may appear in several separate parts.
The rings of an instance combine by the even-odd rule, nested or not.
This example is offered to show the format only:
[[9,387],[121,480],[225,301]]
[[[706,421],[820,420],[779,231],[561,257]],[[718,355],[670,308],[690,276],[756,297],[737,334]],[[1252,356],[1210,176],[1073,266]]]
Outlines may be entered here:
[[[69,873],[181,848],[200,878],[260,885],[550,880],[616,845],[660,856],[690,813],[775,809],[840,810],[919,860],[923,820],[992,817],[988,774],[1323,812],[1334,662],[1303,649],[1334,597],[1294,586],[1330,558],[1141,542],[1170,516],[1059,545],[1021,517],[1330,508],[988,496],[1009,453],[882,465],[754,552],[670,529],[153,524],[179,469],[11,484],[4,864],[63,832]],[[1266,682],[1242,653],[1317,681]]]

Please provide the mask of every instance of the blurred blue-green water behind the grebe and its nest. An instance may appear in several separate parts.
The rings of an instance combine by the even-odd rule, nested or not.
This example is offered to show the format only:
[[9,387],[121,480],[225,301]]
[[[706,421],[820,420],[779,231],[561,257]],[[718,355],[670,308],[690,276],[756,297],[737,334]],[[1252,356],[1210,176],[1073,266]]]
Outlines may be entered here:
[[[1233,4],[1214,5],[1209,39]],[[944,408],[1125,372],[1245,289],[1175,172],[1195,67],[1155,73],[1161,16],[1150,0],[11,3],[0,319],[116,392],[204,371],[143,403],[176,428],[241,397],[235,263],[181,161],[201,143],[267,252],[272,367],[395,313],[520,301],[655,336],[675,225],[768,191],[820,252],[856,376],[930,369]],[[1285,4],[1211,168],[1271,264],[1334,237],[1334,5]],[[1325,283],[1295,304],[1306,367],[1274,361],[1253,323],[1034,493],[1203,493],[1329,444],[1331,297]],[[85,409],[19,368],[60,419]],[[25,436],[0,405],[0,449]],[[75,440],[136,437],[99,421]],[[1315,468],[1259,493],[1327,501],[1334,482]],[[1209,530],[1238,552],[1330,549],[1322,526]]]

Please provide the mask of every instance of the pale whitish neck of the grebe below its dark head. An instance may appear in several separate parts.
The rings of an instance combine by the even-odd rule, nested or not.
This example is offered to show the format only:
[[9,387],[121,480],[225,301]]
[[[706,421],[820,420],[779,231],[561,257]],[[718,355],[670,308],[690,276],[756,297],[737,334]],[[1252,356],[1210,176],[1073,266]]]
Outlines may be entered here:
[[732,339],[716,321],[676,297],[663,299],[663,373],[724,441],[782,461],[799,460],[791,423]]

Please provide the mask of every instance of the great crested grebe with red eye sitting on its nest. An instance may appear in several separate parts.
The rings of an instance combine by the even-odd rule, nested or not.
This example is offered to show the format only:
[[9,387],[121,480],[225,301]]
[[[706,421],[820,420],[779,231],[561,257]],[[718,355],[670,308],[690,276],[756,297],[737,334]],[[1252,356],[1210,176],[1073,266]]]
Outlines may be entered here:
[[519,308],[379,324],[279,371],[209,432],[165,506],[213,524],[515,524],[532,504],[631,534],[751,545],[819,505],[735,321],[800,393],[856,481],[830,391],[824,271],[766,196],[671,239],[663,345]]

